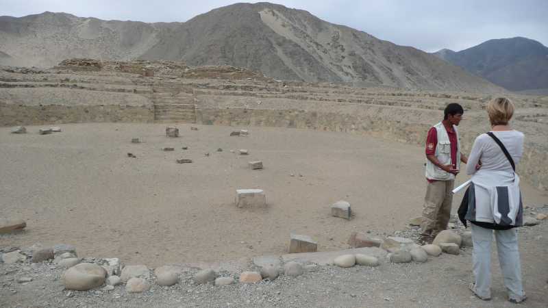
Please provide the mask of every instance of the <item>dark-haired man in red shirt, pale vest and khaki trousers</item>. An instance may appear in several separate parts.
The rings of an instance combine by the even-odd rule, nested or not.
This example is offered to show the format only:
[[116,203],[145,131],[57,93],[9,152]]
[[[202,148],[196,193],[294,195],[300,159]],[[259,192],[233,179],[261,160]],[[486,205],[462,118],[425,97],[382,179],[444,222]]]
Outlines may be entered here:
[[429,129],[426,138],[426,180],[428,181],[423,209],[421,235],[431,243],[440,231],[447,229],[451,216],[453,185],[460,162],[468,157],[460,153],[457,126],[462,119],[462,106],[450,103],[443,112],[443,121]]

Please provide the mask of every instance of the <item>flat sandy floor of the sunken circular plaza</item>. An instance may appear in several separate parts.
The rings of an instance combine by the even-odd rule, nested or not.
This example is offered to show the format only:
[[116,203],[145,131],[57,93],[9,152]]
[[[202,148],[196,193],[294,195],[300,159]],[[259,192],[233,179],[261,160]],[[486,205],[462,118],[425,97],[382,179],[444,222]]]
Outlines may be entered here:
[[[0,236],[0,246],[66,243],[81,256],[154,267],[280,255],[291,232],[312,236],[320,251],[347,248],[351,231],[392,233],[421,214],[419,146],[349,133],[249,127],[250,136],[229,137],[240,127],[176,126],[176,139],[165,137],[165,124],[61,125],[62,133],[45,136],[40,127],[25,135],[0,128],[1,215],[27,221],[23,233]],[[135,137],[144,143],[132,144]],[[264,170],[247,167],[257,159]],[[238,188],[264,189],[268,208],[236,208]],[[526,205],[548,203],[547,192],[522,189]],[[350,221],[329,215],[341,199],[356,213]]]

